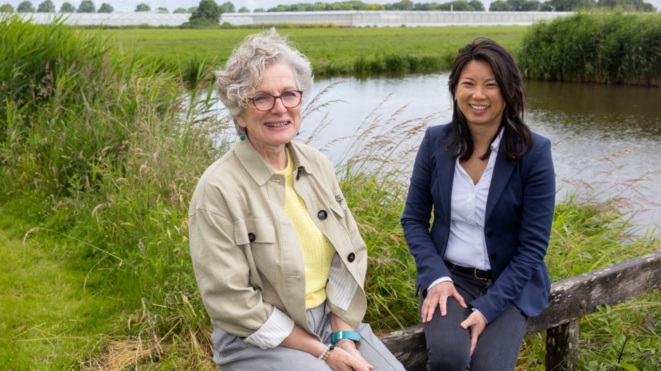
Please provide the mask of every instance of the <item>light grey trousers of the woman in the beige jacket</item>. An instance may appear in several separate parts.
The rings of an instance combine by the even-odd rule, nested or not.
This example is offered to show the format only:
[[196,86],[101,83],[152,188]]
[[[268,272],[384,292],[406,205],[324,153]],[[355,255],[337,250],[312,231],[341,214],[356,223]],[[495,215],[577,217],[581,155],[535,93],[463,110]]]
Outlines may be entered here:
[[[308,326],[321,341],[330,343],[333,329],[330,328],[330,314],[326,314],[326,304],[306,311]],[[360,333],[360,355],[374,366],[374,371],[405,371],[401,363],[374,335],[369,324],[361,323],[356,329]],[[215,353],[213,360],[221,371],[234,370],[309,370],[328,371],[325,361],[306,352],[287,347],[274,347],[262,350],[244,343],[243,338],[228,334],[213,326],[211,335]]]

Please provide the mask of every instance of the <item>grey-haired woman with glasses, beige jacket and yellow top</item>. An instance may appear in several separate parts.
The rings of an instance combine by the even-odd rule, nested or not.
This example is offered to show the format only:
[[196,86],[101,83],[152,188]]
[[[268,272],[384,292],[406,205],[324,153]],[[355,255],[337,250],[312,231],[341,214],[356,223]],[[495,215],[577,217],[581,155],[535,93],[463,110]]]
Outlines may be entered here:
[[403,370],[361,323],[367,249],[333,166],[292,141],[310,62],[271,29],[247,37],[216,76],[240,140],[190,204],[214,360],[223,371]]

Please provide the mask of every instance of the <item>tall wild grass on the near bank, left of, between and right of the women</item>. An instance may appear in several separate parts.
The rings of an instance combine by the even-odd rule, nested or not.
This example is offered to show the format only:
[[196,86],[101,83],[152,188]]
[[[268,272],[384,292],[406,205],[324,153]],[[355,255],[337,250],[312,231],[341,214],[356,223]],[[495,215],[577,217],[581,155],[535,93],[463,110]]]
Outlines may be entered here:
[[[109,352],[124,350],[123,368],[147,362],[168,370],[212,369],[210,324],[187,243],[187,205],[203,170],[234,135],[212,112],[205,64],[195,71],[199,86],[188,90],[168,64],[122,53],[95,32],[1,19],[0,35],[13,35],[0,38],[0,51],[10,55],[0,60],[1,205],[30,222],[25,239],[58,241],[70,252],[62,259],[85,267],[95,287],[108,286],[99,295],[122,297],[119,318],[99,319],[115,322],[112,335],[99,336],[106,350],[88,345],[83,352],[90,358],[72,363],[92,370],[108,365]],[[15,47],[17,40],[30,47]],[[14,76],[28,77],[11,81]],[[327,103],[315,99],[306,113],[320,107]],[[435,117],[402,122],[398,115],[377,107],[336,166],[368,246],[365,320],[377,332],[419,323],[415,262],[399,224],[412,164],[403,138],[419,137]],[[658,248],[658,241],[629,236],[620,210],[617,202],[589,197],[558,204],[547,257],[554,281]],[[647,297],[610,313],[638,329],[646,313],[661,325],[660,307]],[[612,349],[633,344],[637,348],[626,354],[635,358],[658,341],[649,331],[628,332],[620,343],[617,336],[604,339],[623,331],[608,316],[583,321],[585,364],[596,359],[603,370],[614,364],[603,361],[610,351],[595,342]],[[526,342],[521,367],[539,365],[539,344],[539,336]]]

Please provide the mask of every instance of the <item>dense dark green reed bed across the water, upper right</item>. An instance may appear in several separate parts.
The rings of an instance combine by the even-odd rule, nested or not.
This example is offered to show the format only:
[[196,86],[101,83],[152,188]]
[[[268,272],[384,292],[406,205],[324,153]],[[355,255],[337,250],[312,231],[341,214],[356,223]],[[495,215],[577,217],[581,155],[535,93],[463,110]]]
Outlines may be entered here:
[[530,78],[661,85],[661,15],[578,12],[542,21],[517,59]]

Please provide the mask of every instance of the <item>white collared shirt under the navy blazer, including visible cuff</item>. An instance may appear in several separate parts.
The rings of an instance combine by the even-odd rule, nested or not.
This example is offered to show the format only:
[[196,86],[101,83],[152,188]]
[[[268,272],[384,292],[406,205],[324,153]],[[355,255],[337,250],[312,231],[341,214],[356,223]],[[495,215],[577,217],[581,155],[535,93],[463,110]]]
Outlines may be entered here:
[[[456,159],[450,204],[450,236],[443,258],[458,266],[491,269],[484,236],[485,213],[502,137],[503,129],[491,144],[492,155],[478,184],[473,184],[470,175],[459,163],[459,157]],[[427,290],[444,281],[452,279],[449,276],[440,277]]]

